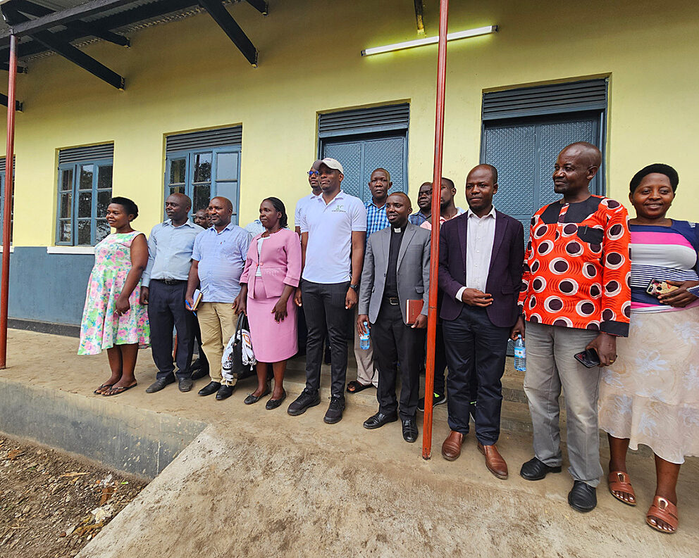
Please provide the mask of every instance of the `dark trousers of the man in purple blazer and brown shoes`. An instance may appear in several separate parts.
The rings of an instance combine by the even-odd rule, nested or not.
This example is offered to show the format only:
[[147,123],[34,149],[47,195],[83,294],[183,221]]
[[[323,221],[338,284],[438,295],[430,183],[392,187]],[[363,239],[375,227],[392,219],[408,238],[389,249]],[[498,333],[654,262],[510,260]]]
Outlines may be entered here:
[[[502,374],[509,327],[493,325],[485,308],[464,305],[457,319],[444,320],[447,376],[447,408],[450,429],[469,432],[469,404],[476,400],[476,438],[492,445],[500,436]],[[476,376],[478,392],[473,397],[471,379]]]

